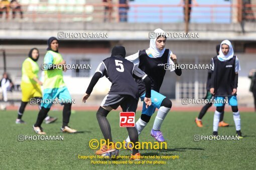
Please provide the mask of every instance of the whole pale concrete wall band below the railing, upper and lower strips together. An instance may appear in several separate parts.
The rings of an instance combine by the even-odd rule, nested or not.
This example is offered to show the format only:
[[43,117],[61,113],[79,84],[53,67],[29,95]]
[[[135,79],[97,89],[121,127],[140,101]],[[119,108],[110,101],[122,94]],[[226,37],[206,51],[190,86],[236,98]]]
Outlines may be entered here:
[[[256,23],[244,24],[244,32],[238,23],[191,23],[190,32],[199,32],[199,38],[173,38],[172,40],[255,40]],[[57,36],[59,31],[66,32],[108,32],[107,40],[147,40],[149,32],[162,28],[166,32],[184,32],[183,23],[92,23],[92,22],[2,22],[0,24],[0,38],[2,39],[47,39]],[[72,38],[65,38],[69,40]],[[75,40],[88,40],[74,38]],[[89,40],[105,40],[90,38]]]

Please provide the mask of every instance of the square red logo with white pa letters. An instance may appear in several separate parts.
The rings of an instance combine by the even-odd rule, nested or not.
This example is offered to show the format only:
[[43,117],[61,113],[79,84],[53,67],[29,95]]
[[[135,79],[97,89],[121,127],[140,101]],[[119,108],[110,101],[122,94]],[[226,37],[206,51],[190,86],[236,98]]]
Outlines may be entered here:
[[134,127],[135,112],[120,112],[120,127]]

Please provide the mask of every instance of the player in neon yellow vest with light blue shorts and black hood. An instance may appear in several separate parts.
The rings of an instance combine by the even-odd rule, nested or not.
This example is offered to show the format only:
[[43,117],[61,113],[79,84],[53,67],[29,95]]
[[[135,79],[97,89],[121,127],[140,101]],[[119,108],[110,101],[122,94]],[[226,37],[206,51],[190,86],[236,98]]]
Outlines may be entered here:
[[48,111],[50,110],[54,99],[57,97],[58,100],[61,101],[61,104],[64,105],[61,131],[74,133],[77,132],[77,130],[68,126],[71,114],[72,98],[63,80],[63,70],[66,71],[66,61],[62,58],[58,51],[59,41],[56,37],[50,37],[47,41],[47,44],[48,51],[45,54],[44,63],[42,64],[42,69],[45,70],[45,78],[43,84],[44,96],[43,102],[41,103],[42,108],[38,113],[37,121],[33,125],[33,129],[38,134],[46,134],[43,131],[41,124]]

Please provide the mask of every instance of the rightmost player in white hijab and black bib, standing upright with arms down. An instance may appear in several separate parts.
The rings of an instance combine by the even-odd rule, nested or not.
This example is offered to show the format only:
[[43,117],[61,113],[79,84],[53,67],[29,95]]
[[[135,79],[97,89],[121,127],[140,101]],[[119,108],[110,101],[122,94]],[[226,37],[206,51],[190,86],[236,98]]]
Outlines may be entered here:
[[210,92],[215,95],[216,111],[213,118],[213,135],[218,135],[218,123],[220,114],[224,109],[224,98],[228,97],[228,103],[233,111],[236,135],[242,138],[240,126],[240,114],[237,108],[237,83],[240,65],[237,56],[234,55],[232,44],[229,40],[223,40],[220,44],[219,55],[212,58],[213,73],[211,77]]

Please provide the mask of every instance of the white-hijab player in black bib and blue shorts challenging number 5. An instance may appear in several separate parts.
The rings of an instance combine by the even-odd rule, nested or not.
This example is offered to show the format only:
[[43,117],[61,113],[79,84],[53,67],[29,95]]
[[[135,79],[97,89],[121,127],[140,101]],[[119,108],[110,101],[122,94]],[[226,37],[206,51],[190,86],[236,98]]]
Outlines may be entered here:
[[[150,40],[150,47],[148,49],[139,50],[139,52],[127,56],[126,59],[134,62],[140,69],[142,69],[152,81],[151,85],[151,100],[152,105],[146,108],[146,104],[143,103],[142,115],[136,122],[136,128],[140,134],[144,127],[149,122],[152,114],[156,108],[159,108],[157,116],[154,121],[151,135],[159,142],[165,141],[162,132],[160,131],[162,122],[164,121],[167,113],[172,107],[172,102],[166,96],[159,93],[160,87],[164,80],[166,72],[166,64],[172,64],[171,70],[175,70],[177,75],[181,75],[181,69],[174,69],[174,65],[177,64],[177,57],[172,53],[170,49],[165,48],[166,37],[162,36],[165,32],[158,28],[155,31],[155,38]],[[140,97],[143,100],[145,97],[145,83],[138,79]],[[125,140],[130,141],[129,136]]]

